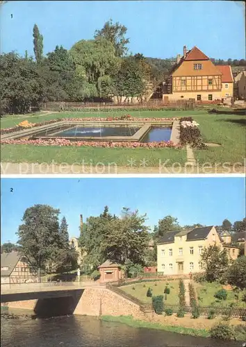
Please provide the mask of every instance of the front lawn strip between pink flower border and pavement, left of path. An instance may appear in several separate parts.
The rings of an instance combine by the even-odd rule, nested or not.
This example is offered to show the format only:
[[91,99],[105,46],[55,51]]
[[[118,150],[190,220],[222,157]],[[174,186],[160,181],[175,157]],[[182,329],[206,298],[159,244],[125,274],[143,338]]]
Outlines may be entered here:
[[[104,149],[92,147],[59,147],[59,146],[33,146],[33,145],[15,145],[7,144],[1,146],[2,162],[37,162],[37,163],[55,163],[61,164],[79,164],[84,166],[106,167],[103,173],[115,173],[115,164],[119,167],[131,168],[143,167],[143,161],[147,167],[158,167],[159,160],[161,165],[167,162],[169,167],[174,162],[183,165],[186,162],[185,149]],[[111,163],[111,164],[110,164]],[[115,164],[113,164],[115,163]],[[100,169],[98,169],[100,171]],[[89,174],[89,172],[88,172]]]

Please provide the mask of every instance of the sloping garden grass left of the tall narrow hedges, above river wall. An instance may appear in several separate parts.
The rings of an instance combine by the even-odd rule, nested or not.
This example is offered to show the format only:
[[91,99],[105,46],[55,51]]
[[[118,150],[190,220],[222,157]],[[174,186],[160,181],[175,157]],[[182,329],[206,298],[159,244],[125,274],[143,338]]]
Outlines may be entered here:
[[[164,289],[166,286],[166,283],[169,285],[167,287],[170,288],[170,294],[167,294],[167,300],[164,300],[164,303],[175,305],[179,303],[179,280],[172,280],[172,281],[161,281],[161,282],[143,282],[143,283],[137,283],[136,285],[127,285],[122,286],[120,289],[126,291],[126,293],[131,294],[132,296],[135,296],[138,298],[142,303],[152,303],[152,299],[148,298],[146,296],[148,288],[152,289],[153,296],[155,295],[163,295]],[[145,285],[145,287],[144,287]],[[135,289],[133,289],[133,287]],[[173,287],[173,288],[172,288]]]

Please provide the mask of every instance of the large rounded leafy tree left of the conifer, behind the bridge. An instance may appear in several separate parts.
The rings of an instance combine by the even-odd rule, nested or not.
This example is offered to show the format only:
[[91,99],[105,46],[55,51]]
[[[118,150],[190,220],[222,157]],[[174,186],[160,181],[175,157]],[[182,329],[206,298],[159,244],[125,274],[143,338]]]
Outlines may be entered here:
[[40,271],[45,271],[48,260],[54,260],[60,246],[59,213],[49,205],[27,208],[17,232],[20,251],[31,267],[38,271],[39,278]]

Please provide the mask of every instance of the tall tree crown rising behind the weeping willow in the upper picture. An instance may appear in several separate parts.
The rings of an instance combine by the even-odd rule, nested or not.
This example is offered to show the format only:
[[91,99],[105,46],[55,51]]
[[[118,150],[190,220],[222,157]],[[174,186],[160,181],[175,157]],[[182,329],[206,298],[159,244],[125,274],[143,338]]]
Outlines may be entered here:
[[116,56],[122,57],[126,55],[128,51],[126,44],[129,44],[129,39],[125,38],[127,28],[126,26],[116,22],[113,24],[112,19],[104,24],[101,30],[95,31],[95,40],[101,37],[105,38],[107,41],[111,42],[115,48]]

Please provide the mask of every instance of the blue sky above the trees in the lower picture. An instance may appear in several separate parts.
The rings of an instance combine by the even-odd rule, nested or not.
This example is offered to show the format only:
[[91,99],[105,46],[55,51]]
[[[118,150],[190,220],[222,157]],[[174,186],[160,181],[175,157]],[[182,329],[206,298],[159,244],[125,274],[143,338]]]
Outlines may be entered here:
[[[16,242],[15,232],[26,208],[37,203],[60,209],[69,235],[79,236],[79,214],[97,216],[108,205],[147,213],[151,228],[171,214],[181,225],[220,225],[245,217],[243,178],[3,178],[1,179],[1,244]],[[13,192],[10,192],[13,188]]]

